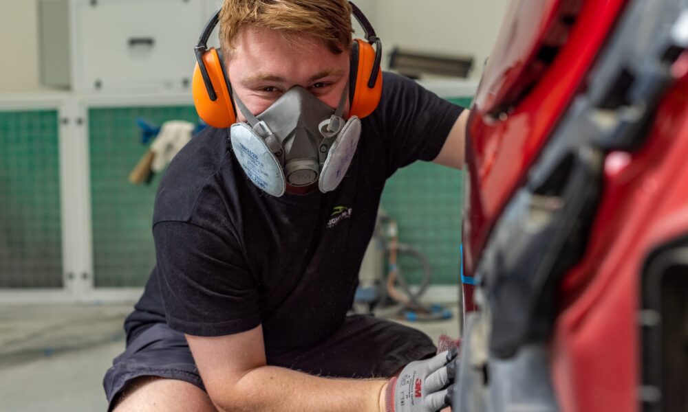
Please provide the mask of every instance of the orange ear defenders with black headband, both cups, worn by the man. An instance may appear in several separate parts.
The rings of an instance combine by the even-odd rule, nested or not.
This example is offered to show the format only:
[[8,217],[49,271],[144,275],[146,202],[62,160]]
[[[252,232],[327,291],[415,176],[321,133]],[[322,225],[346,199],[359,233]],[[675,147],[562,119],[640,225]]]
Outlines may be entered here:
[[[375,34],[372,25],[361,9],[354,3],[352,14],[363,27],[365,40],[354,38],[350,59],[349,75],[349,116],[366,117],[373,113],[380,102],[382,94],[382,43]],[[198,115],[207,124],[215,128],[228,128],[237,121],[237,111],[232,100],[232,86],[224,68],[222,51],[211,47],[208,49],[208,38],[219,21],[220,10],[217,10],[194,47],[196,66],[193,69],[191,89],[193,103]],[[376,47],[373,48],[373,45]]]

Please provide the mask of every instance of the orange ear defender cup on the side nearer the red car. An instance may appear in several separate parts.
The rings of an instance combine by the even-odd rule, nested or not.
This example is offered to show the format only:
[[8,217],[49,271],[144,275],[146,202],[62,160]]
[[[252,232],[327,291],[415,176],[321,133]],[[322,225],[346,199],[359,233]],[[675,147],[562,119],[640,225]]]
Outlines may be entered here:
[[375,49],[367,41],[354,38],[351,53],[351,72],[349,92],[349,115],[363,119],[380,103],[380,95],[383,92],[382,69],[378,68],[378,78],[375,86],[368,87],[368,80],[375,65]]

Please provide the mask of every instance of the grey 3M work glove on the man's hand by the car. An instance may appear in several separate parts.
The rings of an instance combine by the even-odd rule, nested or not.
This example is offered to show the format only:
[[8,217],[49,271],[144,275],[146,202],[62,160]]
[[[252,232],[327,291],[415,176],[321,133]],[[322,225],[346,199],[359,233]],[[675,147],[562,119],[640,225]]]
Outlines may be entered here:
[[458,348],[411,362],[387,384],[387,412],[436,412],[451,405]]

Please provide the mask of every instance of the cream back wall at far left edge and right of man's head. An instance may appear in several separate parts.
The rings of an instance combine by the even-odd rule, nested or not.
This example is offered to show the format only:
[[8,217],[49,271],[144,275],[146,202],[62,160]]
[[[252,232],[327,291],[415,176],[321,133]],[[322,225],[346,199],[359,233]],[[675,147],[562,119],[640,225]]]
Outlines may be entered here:
[[[472,78],[497,37],[510,0],[358,0],[389,52],[398,45],[475,58]],[[39,84],[36,0],[0,0],[0,93]],[[383,58],[384,67],[388,57]]]

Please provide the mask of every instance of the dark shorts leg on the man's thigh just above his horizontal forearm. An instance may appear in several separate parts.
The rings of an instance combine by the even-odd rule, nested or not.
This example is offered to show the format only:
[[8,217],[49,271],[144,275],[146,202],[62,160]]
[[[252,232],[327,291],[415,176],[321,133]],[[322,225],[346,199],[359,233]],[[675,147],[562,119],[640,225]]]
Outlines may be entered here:
[[419,330],[368,315],[353,315],[332,336],[306,350],[269,355],[268,363],[339,378],[389,378],[437,352]]

